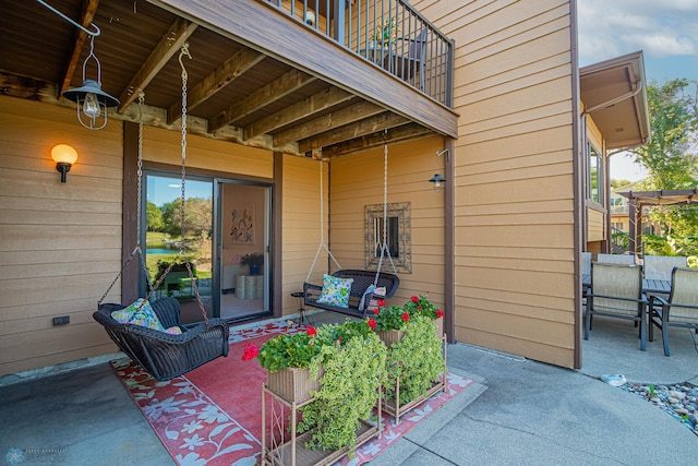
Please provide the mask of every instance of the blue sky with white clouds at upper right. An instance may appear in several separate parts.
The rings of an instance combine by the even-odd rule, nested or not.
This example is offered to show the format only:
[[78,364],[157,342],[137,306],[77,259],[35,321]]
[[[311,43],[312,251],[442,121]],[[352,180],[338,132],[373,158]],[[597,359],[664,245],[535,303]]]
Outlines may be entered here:
[[[579,65],[642,50],[648,81],[698,81],[698,0],[577,0]],[[611,178],[637,181],[633,158],[611,158]]]

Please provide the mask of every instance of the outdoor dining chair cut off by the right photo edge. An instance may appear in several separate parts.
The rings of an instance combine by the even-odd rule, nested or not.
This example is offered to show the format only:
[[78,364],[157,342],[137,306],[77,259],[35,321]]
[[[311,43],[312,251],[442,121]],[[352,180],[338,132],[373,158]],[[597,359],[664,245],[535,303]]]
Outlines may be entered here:
[[674,268],[669,300],[651,295],[649,312],[650,342],[654,339],[653,328],[658,326],[662,331],[664,356],[670,356],[670,326],[694,328],[698,333],[698,268]]

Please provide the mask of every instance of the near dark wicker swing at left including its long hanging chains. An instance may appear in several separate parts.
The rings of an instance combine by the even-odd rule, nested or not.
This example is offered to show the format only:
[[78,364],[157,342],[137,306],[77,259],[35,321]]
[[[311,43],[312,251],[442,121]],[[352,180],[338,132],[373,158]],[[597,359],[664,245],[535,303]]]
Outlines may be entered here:
[[[185,179],[185,136],[186,136],[186,71],[182,63],[182,55],[189,56],[186,45],[182,46],[179,61],[182,65],[182,194],[181,194],[181,235],[184,238],[184,179]],[[191,58],[191,56],[190,56]],[[139,97],[140,108],[143,104],[143,94]],[[141,115],[141,113],[140,113]],[[103,303],[106,296],[109,294],[111,287],[117,283],[119,277],[123,274],[131,260],[136,255],[142,265],[148,283],[148,292],[143,301],[143,304],[148,301],[153,292],[158,289],[163,284],[165,277],[170,272],[176,261],[172,261],[170,266],[160,275],[157,284],[153,286],[151,283],[147,267],[145,266],[145,260],[143,258],[143,250],[141,249],[141,184],[142,184],[142,140],[143,140],[143,122],[142,118],[139,119],[139,235],[137,244],[124,265],[113,279],[107,291],[104,294],[98,302],[98,310],[93,313],[93,318],[99,324],[101,324],[109,337],[116,343],[127,356],[129,356],[135,363],[141,366],[143,370],[153,375],[157,380],[166,381],[173,379],[184,372],[191,371],[204,363],[216,359],[220,356],[228,356],[228,337],[229,328],[228,324],[221,319],[208,319],[206,310],[201,300],[198,288],[195,280],[193,280],[193,272],[191,264],[186,258],[186,246],[182,241],[182,246],[179,255],[183,258],[186,270],[189,271],[190,278],[192,278],[192,286],[198,301],[198,307],[202,311],[203,322],[194,324],[182,324],[179,301],[174,298],[161,298],[151,302],[151,308],[155,311],[159,323],[164,328],[177,326],[181,331],[181,334],[172,335],[166,332],[152,330],[145,326],[135,325],[127,322],[121,323],[112,316],[113,311],[118,311],[128,307],[122,303]],[[143,307],[141,304],[141,308]],[[141,309],[139,308],[139,309]]]

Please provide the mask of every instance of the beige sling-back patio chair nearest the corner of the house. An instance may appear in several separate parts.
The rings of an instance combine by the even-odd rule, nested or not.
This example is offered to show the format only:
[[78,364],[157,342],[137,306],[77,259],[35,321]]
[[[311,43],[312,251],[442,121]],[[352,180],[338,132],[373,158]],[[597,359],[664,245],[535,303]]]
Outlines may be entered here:
[[646,350],[647,298],[642,295],[642,266],[591,263],[591,288],[587,291],[585,339],[592,315],[631,320],[640,327],[640,349]]

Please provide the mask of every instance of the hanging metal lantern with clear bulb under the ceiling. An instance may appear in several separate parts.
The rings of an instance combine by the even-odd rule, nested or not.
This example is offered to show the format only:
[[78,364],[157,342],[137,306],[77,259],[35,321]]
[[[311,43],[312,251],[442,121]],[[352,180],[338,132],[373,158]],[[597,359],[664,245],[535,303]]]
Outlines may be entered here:
[[[97,28],[97,26],[94,27]],[[99,35],[99,28],[96,34],[92,35],[89,55],[83,63],[82,87],[68,89],[63,93],[63,97],[77,104],[77,120],[89,130],[100,130],[106,127],[107,108],[119,105],[118,99],[101,89],[101,63],[94,53],[95,36],[97,35]],[[97,81],[85,79],[85,68],[91,58],[97,63]]]

